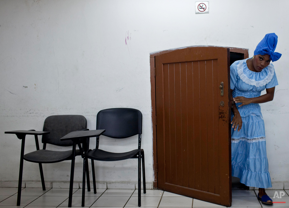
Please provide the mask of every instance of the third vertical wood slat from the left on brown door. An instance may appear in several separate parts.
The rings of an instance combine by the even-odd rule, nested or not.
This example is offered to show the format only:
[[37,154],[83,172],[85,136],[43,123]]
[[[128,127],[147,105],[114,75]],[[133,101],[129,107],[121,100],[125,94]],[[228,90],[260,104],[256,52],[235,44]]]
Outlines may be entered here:
[[177,185],[183,185],[182,178],[182,138],[181,138],[181,68],[180,63],[175,63],[175,111],[176,111],[176,161]]

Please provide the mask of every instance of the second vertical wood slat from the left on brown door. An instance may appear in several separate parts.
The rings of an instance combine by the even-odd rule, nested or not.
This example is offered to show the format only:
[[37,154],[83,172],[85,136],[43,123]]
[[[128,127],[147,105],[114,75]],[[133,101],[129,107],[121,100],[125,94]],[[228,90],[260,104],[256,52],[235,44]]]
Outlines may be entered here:
[[171,143],[171,183],[177,185],[177,162],[176,162],[176,112],[175,112],[175,66],[168,64],[169,72],[169,100],[170,100],[170,143]]

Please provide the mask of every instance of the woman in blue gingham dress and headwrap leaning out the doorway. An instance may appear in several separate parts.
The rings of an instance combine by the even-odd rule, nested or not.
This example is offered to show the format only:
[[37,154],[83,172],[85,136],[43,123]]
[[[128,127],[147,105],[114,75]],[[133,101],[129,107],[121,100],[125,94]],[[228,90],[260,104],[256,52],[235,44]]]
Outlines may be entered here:
[[[272,187],[268,172],[264,121],[258,103],[274,98],[278,85],[274,66],[281,54],[274,52],[277,35],[266,34],[257,45],[254,56],[235,61],[230,67],[232,176],[247,186],[258,187],[257,198],[264,204],[273,204],[265,192]],[[266,94],[261,91],[266,89]],[[260,96],[261,95],[261,96]]]

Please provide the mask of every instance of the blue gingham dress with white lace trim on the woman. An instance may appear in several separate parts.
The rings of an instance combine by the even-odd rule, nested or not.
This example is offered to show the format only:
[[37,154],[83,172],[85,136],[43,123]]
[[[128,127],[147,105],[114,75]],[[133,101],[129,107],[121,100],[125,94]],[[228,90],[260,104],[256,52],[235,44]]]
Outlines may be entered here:
[[[235,61],[230,67],[230,84],[233,98],[258,97],[265,88],[278,85],[273,64],[261,72],[248,69],[247,59]],[[242,129],[231,128],[232,176],[240,178],[247,186],[270,188],[264,121],[259,104],[251,103],[238,107],[242,117]],[[233,119],[234,113],[231,112]]]

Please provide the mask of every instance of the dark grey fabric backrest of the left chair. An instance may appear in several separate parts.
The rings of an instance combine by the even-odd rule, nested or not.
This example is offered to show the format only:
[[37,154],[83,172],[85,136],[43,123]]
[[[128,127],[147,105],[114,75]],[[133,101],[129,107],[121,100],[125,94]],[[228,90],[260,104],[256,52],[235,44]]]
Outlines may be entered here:
[[86,118],[81,115],[55,115],[45,119],[43,131],[50,134],[42,135],[42,143],[48,143],[57,146],[72,146],[71,140],[60,141],[60,138],[66,134],[82,129],[86,129]]

